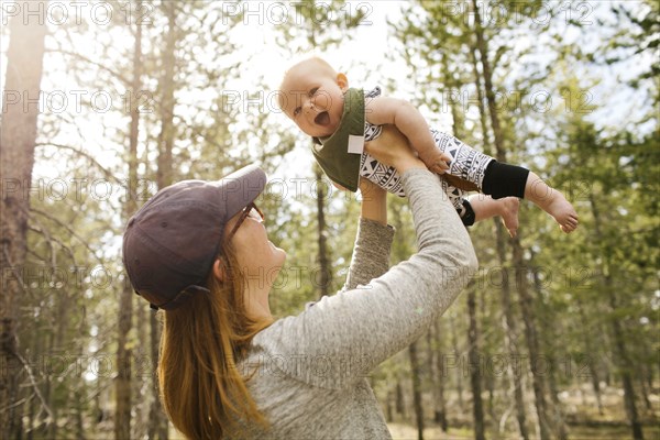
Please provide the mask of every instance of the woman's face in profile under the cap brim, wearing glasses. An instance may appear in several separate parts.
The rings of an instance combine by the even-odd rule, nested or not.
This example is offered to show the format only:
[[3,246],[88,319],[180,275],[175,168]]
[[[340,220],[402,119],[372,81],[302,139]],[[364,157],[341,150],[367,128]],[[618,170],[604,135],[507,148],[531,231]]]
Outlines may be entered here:
[[254,208],[246,216],[244,210],[241,210],[232,217],[227,223],[226,238],[234,230],[229,239],[232,241],[241,271],[249,279],[258,278],[271,286],[284,265],[286,252],[268,240],[263,219]]

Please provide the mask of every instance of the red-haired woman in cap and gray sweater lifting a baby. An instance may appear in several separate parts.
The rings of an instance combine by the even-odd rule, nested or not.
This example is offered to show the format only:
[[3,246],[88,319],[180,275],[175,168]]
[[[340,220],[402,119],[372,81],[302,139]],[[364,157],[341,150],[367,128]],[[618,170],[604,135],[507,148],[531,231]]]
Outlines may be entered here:
[[391,438],[366,376],[449,307],[476,257],[438,177],[400,135],[378,141],[365,147],[403,176],[419,252],[388,271],[386,195],[361,183],[345,286],[298,316],[274,320],[268,307],[286,253],[254,205],[260,168],[173,185],[129,221],[124,264],[136,293],[166,310],[161,397],[186,437]]

